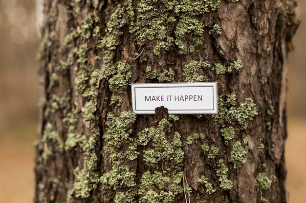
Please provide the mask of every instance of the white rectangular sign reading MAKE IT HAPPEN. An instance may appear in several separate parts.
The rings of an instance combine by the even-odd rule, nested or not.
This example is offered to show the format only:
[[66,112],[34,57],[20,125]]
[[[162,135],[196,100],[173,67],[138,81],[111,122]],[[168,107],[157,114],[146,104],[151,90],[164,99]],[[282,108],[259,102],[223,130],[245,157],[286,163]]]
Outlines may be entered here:
[[154,114],[164,106],[170,114],[218,113],[217,82],[132,84],[136,114]]

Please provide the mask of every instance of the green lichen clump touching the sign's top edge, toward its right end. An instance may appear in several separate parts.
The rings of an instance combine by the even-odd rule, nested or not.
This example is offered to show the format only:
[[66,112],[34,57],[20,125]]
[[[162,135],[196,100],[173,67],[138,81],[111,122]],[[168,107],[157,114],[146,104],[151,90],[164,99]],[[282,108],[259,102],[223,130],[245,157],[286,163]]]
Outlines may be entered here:
[[203,61],[190,61],[183,68],[183,77],[185,82],[207,82],[208,78],[204,74],[204,69],[211,65]]

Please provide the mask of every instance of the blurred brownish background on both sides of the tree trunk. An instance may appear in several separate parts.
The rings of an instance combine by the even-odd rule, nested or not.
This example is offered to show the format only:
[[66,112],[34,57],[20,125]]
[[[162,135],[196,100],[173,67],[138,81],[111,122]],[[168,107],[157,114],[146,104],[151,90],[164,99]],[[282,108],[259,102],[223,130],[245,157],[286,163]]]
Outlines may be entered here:
[[[289,203],[306,203],[306,1],[298,3],[302,22],[288,58]],[[0,203],[32,203],[34,195],[40,19],[42,0],[0,0]]]

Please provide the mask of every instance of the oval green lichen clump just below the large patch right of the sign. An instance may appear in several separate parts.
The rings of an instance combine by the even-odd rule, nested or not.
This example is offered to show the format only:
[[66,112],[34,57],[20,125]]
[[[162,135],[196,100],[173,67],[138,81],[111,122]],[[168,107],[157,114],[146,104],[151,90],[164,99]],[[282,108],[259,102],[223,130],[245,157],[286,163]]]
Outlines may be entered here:
[[246,154],[248,147],[243,147],[239,141],[236,141],[233,145],[233,149],[230,155],[230,162],[234,163],[234,168],[238,168],[241,164],[246,162]]

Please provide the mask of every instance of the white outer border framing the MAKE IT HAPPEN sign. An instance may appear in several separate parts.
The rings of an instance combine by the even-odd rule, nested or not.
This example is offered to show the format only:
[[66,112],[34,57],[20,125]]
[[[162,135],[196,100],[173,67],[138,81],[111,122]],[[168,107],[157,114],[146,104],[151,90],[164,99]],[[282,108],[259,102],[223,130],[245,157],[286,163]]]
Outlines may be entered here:
[[217,82],[199,83],[136,83],[131,84],[132,108],[136,114],[155,114],[154,110],[136,110],[136,88],[167,88],[167,87],[213,87],[213,110],[168,110],[169,114],[216,114],[218,113]]

